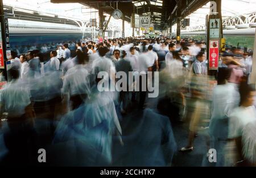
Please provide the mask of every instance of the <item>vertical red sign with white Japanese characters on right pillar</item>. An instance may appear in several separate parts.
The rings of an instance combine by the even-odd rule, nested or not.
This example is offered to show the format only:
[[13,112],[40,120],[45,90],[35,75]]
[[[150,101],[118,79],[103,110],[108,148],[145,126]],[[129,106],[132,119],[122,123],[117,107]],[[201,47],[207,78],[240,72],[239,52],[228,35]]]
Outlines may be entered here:
[[218,69],[218,49],[219,41],[210,40],[210,50],[209,50],[209,69],[217,70]]

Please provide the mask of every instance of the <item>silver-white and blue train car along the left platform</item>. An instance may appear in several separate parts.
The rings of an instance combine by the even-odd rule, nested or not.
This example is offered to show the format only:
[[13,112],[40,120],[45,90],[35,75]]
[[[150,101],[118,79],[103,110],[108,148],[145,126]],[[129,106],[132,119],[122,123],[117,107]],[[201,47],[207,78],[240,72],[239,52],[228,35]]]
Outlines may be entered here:
[[31,48],[40,49],[42,46],[52,46],[64,41],[78,41],[82,39],[81,28],[46,22],[9,19],[10,45],[18,53]]

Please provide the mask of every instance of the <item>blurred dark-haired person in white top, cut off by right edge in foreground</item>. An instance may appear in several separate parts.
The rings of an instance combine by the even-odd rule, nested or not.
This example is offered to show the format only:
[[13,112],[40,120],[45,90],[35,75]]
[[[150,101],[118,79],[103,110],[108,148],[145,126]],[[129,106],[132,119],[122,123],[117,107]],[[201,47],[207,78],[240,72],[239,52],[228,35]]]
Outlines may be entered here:
[[236,165],[251,166],[256,163],[255,132],[248,132],[251,126],[256,130],[256,109],[253,105],[255,94],[253,87],[242,82],[240,107],[234,109],[229,120],[229,138],[236,143],[237,154],[233,156],[233,164]]

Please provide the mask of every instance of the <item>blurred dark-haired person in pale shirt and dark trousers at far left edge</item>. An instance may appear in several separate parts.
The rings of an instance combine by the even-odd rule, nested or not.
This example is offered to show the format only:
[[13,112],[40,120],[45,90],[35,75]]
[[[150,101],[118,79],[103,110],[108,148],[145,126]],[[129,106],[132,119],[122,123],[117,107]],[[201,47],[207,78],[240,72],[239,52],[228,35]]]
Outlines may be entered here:
[[17,154],[15,158],[23,159],[23,163],[26,164],[27,160],[30,159],[27,157],[31,155],[30,151],[35,149],[33,146],[36,143],[35,114],[30,100],[30,90],[27,84],[19,79],[19,71],[11,68],[9,72],[12,80],[0,90],[0,116],[2,118],[4,112],[8,113],[7,124],[9,131],[4,135],[5,143],[8,143],[6,146],[9,152],[22,151],[22,155]]

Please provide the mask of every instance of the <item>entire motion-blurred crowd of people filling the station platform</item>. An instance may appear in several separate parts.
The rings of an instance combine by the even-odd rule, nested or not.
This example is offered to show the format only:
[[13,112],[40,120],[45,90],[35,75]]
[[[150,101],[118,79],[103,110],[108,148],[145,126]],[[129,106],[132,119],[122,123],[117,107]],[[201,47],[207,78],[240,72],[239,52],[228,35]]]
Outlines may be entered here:
[[[255,166],[253,52],[226,48],[210,77],[205,41],[175,42],[128,37],[12,51],[0,91],[0,164],[35,164],[46,149],[54,166],[172,166],[201,135],[217,151],[209,163],[205,150],[202,166]],[[143,79],[159,88],[156,98]],[[127,86],[100,91],[102,80]],[[178,148],[173,128],[180,125],[188,143]]]

